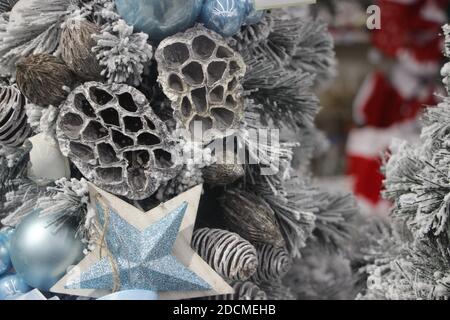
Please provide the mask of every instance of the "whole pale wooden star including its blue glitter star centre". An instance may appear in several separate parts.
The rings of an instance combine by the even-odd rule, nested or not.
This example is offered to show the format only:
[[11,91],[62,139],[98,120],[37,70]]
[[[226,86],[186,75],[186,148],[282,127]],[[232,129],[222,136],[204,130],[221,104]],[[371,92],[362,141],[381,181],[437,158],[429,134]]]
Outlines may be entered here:
[[52,292],[100,298],[122,288],[151,289],[162,300],[233,293],[190,247],[201,185],[148,212],[93,184],[89,192],[108,254],[97,245]]

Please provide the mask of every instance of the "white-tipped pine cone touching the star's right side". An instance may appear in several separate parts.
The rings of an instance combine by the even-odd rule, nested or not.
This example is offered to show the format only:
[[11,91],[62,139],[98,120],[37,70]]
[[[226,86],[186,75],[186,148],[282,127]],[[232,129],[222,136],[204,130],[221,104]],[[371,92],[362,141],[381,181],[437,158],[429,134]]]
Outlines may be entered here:
[[239,235],[220,229],[199,229],[192,247],[222,277],[245,281],[258,266],[256,249]]

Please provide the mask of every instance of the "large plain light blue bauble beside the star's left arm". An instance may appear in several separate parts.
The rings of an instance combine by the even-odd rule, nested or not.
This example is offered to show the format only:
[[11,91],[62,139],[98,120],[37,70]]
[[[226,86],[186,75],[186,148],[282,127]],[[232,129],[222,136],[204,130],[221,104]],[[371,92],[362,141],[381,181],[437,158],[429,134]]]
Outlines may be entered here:
[[83,244],[76,237],[79,222],[69,218],[62,226],[54,217],[38,212],[26,217],[11,239],[11,261],[16,272],[33,288],[48,291],[83,257]]

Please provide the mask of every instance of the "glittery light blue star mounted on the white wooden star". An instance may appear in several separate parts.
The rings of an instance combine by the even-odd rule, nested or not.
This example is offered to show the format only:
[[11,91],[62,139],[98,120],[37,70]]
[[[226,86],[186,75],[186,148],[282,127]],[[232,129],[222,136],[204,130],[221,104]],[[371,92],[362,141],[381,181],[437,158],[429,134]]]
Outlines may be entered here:
[[105,213],[97,204],[100,223],[107,221],[105,241],[110,256],[82,272],[66,288],[112,289],[119,285],[120,290],[159,292],[211,289],[172,255],[186,209],[184,202],[158,223],[139,231],[113,210]]

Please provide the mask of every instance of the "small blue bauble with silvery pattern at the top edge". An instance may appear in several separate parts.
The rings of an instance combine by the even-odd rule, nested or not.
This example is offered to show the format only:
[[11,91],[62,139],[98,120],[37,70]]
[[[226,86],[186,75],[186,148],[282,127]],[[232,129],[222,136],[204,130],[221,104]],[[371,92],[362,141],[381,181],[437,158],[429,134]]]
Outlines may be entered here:
[[224,37],[241,30],[248,14],[251,0],[205,0],[200,22]]

